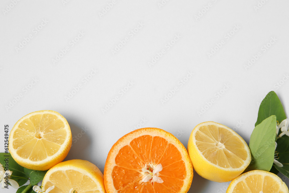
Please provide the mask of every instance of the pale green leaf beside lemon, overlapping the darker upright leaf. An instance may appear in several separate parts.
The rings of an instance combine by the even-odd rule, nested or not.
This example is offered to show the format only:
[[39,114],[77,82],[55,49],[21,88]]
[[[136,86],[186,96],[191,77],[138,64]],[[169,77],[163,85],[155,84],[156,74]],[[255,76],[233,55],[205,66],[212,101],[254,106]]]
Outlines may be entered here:
[[276,116],[272,115],[257,125],[250,138],[251,163],[249,170],[270,171],[274,161]]

